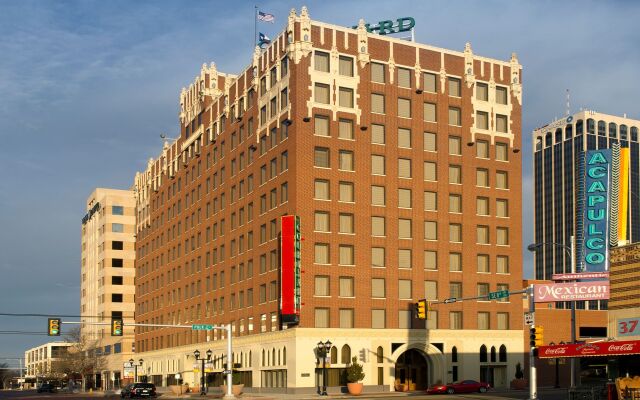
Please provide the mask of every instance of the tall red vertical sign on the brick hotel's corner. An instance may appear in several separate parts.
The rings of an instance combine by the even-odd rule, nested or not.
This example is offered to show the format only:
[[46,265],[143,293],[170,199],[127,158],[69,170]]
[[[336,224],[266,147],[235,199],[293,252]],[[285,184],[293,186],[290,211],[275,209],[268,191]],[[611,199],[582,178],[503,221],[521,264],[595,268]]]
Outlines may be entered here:
[[300,316],[300,217],[281,217],[280,315],[282,322],[295,324]]

